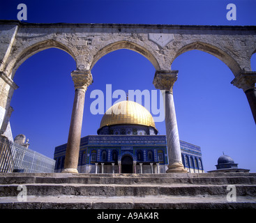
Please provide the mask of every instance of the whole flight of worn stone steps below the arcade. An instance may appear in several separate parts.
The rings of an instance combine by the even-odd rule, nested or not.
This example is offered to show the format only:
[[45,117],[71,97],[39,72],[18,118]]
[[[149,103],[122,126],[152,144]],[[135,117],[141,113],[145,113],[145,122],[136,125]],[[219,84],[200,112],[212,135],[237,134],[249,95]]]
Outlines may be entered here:
[[[255,173],[0,174],[0,208],[256,208],[255,180]],[[27,201],[17,200],[20,185]],[[227,201],[228,185],[236,202]]]

